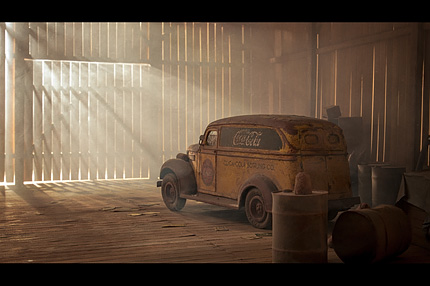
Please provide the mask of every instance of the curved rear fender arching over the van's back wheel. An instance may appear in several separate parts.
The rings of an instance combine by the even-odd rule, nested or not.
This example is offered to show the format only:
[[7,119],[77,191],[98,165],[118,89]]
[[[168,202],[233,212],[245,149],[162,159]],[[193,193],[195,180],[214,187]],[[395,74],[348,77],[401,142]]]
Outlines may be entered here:
[[240,188],[239,208],[245,205],[246,195],[252,188],[261,191],[266,210],[272,212],[272,193],[277,192],[278,188],[271,179],[261,174],[252,176]]

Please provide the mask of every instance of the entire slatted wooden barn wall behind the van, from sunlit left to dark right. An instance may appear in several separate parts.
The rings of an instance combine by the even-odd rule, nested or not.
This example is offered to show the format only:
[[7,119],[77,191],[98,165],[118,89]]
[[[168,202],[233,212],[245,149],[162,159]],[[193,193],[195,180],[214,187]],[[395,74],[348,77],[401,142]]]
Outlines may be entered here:
[[[237,114],[362,117],[367,161],[430,133],[426,23],[2,23],[0,184],[156,179]],[[428,153],[425,163],[429,164]]]

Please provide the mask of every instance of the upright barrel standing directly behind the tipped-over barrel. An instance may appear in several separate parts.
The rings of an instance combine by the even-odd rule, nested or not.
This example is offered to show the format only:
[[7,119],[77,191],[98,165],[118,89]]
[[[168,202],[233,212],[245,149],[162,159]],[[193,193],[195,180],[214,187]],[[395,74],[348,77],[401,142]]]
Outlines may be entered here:
[[406,168],[398,166],[372,168],[372,206],[396,203],[404,172]]

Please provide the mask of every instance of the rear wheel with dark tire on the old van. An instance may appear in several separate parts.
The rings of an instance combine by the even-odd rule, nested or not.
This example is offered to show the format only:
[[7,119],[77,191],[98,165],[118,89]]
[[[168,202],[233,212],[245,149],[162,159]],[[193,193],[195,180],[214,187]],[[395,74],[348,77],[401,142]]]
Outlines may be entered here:
[[267,212],[263,195],[259,189],[253,188],[246,195],[245,213],[252,226],[261,229],[272,227],[272,214]]

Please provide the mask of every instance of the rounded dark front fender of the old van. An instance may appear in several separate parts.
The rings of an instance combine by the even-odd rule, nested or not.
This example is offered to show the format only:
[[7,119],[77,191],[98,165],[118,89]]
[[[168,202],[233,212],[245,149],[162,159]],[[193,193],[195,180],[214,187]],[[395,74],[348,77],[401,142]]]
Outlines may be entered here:
[[161,166],[160,179],[174,173],[179,181],[180,194],[193,195],[197,192],[196,177],[190,162],[183,159],[169,159]]

